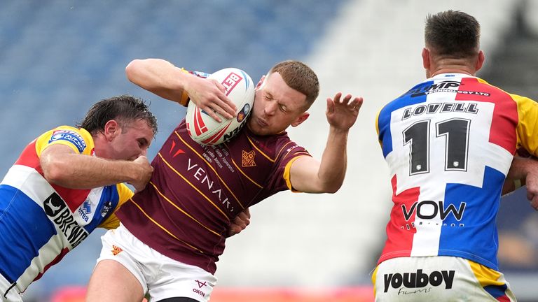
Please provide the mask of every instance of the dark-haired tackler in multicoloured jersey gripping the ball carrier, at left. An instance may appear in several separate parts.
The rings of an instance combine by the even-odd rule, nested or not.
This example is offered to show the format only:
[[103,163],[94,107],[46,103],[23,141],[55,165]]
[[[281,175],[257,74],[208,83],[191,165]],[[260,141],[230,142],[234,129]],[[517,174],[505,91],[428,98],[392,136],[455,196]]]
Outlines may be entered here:
[[143,189],[146,150],[157,131],[143,101],[95,103],[78,127],[60,126],[29,143],[0,183],[0,296],[41,278],[96,227],[118,227],[114,210]]

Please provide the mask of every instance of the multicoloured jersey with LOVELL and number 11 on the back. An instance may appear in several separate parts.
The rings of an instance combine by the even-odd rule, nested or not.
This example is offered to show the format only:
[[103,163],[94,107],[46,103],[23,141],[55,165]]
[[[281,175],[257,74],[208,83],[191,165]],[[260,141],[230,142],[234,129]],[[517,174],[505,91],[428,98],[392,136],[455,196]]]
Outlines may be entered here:
[[538,152],[538,105],[445,73],[388,103],[376,127],[394,206],[379,263],[453,256],[498,271],[495,219],[513,154]]

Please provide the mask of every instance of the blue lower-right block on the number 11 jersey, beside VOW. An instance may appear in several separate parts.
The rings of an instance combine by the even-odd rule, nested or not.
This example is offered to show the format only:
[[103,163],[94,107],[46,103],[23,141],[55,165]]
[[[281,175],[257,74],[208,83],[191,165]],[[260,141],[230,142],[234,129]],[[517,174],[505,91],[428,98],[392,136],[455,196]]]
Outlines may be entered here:
[[[444,208],[453,205],[457,210],[461,202],[465,202],[466,206],[461,221],[456,220],[455,215],[448,215],[443,220],[440,256],[464,257],[499,270],[495,220],[502,189],[499,184],[502,182],[504,174],[486,166],[481,188],[461,184],[446,186]],[[451,227],[451,224],[455,227]],[[460,224],[464,224],[464,227],[460,227]]]

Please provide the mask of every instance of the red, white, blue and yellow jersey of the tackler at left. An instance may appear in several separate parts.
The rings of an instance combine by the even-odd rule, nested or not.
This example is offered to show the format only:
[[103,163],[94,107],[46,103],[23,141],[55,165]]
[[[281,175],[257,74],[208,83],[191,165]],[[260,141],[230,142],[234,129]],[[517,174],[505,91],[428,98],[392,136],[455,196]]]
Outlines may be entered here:
[[113,211],[132,196],[125,185],[67,189],[50,184],[43,177],[39,157],[54,144],[94,155],[88,131],[57,127],[29,143],[0,183],[0,273],[18,292],[96,227],[118,227]]

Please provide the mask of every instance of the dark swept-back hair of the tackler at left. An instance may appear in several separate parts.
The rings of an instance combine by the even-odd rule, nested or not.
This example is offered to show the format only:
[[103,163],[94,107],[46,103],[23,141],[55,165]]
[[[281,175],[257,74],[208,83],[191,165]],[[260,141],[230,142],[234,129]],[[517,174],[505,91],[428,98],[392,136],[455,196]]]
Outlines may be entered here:
[[78,128],[84,128],[90,134],[104,131],[104,125],[109,120],[116,120],[120,127],[129,128],[130,122],[145,120],[153,129],[153,135],[157,134],[157,119],[149,111],[146,103],[135,96],[121,95],[103,99],[95,103],[82,122],[76,124]]

